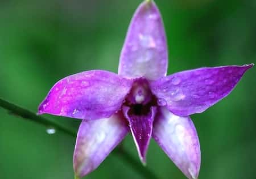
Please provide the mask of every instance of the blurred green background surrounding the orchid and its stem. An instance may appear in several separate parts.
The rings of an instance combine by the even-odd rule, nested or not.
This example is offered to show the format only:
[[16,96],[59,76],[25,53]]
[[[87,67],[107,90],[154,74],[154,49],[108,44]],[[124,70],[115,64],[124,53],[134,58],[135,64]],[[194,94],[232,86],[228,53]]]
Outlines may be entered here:
[[[203,66],[256,62],[256,1],[155,0],[166,27],[168,74]],[[1,0],[0,97],[36,112],[64,76],[91,69],[117,72],[135,8],[129,0]],[[217,105],[195,114],[201,144],[199,178],[256,178],[256,71]],[[73,178],[75,138],[0,108],[0,178]],[[45,117],[77,127],[79,120]],[[131,135],[124,147],[137,160]],[[185,178],[151,140],[147,167],[159,178]],[[141,178],[110,154],[87,178]]]

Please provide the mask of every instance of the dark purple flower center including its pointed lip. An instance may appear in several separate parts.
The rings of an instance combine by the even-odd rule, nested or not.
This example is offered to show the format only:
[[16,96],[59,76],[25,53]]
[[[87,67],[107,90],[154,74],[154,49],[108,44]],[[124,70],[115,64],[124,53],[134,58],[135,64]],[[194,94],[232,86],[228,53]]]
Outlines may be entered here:
[[143,162],[152,135],[157,110],[156,104],[156,97],[152,95],[147,80],[138,78],[133,83],[133,87],[122,106],[123,116],[129,122],[139,156]]

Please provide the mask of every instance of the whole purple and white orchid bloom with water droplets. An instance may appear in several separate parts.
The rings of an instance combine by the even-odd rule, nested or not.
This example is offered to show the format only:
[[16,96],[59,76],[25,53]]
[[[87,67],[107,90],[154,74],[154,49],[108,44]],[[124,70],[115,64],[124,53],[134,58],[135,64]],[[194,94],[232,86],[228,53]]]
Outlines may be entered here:
[[200,145],[189,115],[227,96],[251,65],[204,67],[166,76],[167,42],[155,3],[135,12],[118,75],[92,70],[55,84],[39,114],[79,118],[73,167],[85,176],[131,131],[142,163],[151,137],[188,178],[197,178]]

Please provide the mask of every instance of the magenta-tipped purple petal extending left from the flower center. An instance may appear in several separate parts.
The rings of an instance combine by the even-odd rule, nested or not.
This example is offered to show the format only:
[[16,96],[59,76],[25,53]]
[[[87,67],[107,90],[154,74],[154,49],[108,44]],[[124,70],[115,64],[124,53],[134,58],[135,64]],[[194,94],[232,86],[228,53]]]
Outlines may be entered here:
[[131,80],[93,70],[61,79],[39,106],[39,114],[94,120],[117,112],[130,91]]

